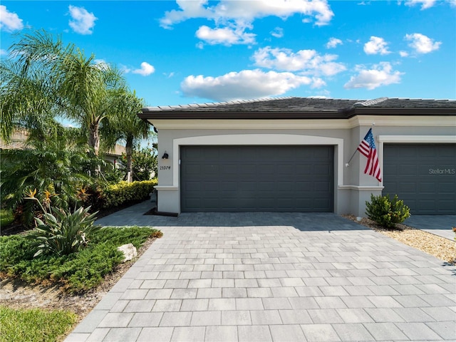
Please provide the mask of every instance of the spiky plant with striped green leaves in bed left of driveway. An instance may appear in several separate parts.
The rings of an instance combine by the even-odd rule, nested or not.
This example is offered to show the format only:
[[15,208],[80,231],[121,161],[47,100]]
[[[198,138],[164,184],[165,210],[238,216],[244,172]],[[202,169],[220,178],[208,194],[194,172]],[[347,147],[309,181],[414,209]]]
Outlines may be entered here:
[[35,241],[37,252],[33,257],[42,253],[68,255],[86,247],[90,234],[100,229],[93,225],[96,214],[89,214],[90,207],[79,207],[73,212],[51,206],[51,193],[46,192],[44,205],[35,197],[36,190],[28,193],[26,199],[36,201],[43,212],[43,219],[35,217],[36,228],[27,235]]

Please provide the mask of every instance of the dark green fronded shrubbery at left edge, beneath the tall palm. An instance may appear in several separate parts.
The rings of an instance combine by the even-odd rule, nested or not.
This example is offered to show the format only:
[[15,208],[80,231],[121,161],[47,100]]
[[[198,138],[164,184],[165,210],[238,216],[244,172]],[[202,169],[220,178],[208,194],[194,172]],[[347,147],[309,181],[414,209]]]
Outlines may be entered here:
[[1,150],[1,203],[13,209],[16,219],[30,227],[40,208],[24,202],[24,192],[38,190],[39,199],[48,191],[53,205],[68,208],[77,201],[78,187],[87,184],[87,171],[100,162],[73,130],[60,128],[51,139],[31,140],[26,150]]

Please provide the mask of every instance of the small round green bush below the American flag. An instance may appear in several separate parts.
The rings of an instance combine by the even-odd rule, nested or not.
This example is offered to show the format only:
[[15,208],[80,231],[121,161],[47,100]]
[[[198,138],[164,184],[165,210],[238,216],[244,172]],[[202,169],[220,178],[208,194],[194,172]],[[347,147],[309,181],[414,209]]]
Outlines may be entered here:
[[382,227],[393,228],[396,223],[410,217],[410,209],[403,200],[398,199],[398,195],[390,199],[389,196],[371,194],[371,202],[366,201],[366,214]]

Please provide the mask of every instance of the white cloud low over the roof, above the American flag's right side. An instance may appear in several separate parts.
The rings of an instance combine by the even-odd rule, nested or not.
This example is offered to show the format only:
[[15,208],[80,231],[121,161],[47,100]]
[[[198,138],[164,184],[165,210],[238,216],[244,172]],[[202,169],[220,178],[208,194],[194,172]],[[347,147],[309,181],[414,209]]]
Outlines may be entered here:
[[400,83],[400,76],[403,75],[399,71],[393,71],[393,67],[388,62],[376,64],[371,69],[357,66],[357,71],[358,75],[352,76],[343,88],[367,88],[368,90],[373,90],[380,86]]

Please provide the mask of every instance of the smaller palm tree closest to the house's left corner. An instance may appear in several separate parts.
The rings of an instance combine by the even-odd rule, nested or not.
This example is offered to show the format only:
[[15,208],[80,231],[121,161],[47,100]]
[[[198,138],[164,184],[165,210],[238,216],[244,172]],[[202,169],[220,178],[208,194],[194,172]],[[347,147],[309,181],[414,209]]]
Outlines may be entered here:
[[[142,98],[123,88],[110,92],[110,107],[115,115],[105,121],[102,128],[103,141],[106,147],[113,147],[118,140],[125,141],[125,155],[127,157],[127,175],[132,175],[132,154],[135,142],[149,138],[154,133],[149,123],[138,118],[138,113],[144,107]],[[128,173],[130,172],[130,173]]]

